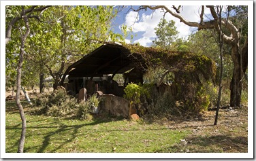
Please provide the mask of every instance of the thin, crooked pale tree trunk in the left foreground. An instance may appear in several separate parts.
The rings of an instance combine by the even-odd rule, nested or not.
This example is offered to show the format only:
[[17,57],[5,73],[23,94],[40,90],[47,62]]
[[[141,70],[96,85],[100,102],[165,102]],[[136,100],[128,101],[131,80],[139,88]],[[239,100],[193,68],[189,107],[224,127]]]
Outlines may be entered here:
[[28,21],[27,15],[25,14],[24,6],[22,6],[22,16],[24,18],[27,31],[26,31],[25,35],[22,35],[22,31],[20,30],[20,34],[21,34],[20,57],[19,57],[18,68],[17,68],[16,105],[18,107],[18,110],[20,111],[20,118],[21,118],[21,121],[22,121],[20,141],[19,141],[19,144],[18,144],[18,153],[23,152],[24,144],[25,144],[26,126],[27,126],[24,109],[23,109],[22,105],[20,104],[21,69],[22,69],[22,63],[23,63],[23,56],[25,54],[25,41],[27,39],[27,36],[30,33],[29,21]]

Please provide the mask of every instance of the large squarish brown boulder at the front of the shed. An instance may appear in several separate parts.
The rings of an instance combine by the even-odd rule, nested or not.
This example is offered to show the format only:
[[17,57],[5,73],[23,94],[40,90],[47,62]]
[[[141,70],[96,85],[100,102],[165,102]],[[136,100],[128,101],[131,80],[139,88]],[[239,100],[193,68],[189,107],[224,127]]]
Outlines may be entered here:
[[129,101],[122,97],[114,96],[113,94],[102,94],[100,99],[99,111],[105,111],[115,116],[128,118],[129,116]]

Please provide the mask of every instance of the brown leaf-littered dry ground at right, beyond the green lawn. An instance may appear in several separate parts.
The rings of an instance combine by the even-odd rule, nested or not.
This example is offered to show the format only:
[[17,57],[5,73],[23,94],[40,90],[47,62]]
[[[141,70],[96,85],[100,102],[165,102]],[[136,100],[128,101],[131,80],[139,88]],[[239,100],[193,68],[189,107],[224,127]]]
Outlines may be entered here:
[[202,120],[165,122],[171,129],[191,130],[191,135],[174,147],[180,152],[247,153],[248,107],[220,109],[217,126],[213,125],[215,114],[206,111]]

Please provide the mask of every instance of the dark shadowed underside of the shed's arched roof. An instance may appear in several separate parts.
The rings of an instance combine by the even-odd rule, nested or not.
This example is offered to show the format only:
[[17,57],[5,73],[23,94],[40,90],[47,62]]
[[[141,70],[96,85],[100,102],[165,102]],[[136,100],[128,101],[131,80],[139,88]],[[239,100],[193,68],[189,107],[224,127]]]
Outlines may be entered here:
[[125,71],[143,64],[144,60],[140,54],[131,54],[124,46],[107,43],[69,66],[65,75],[69,75],[69,77],[97,77],[125,73]]

